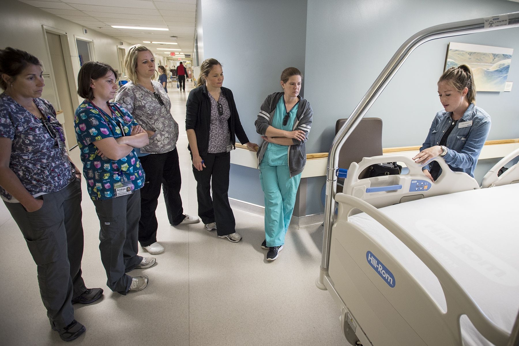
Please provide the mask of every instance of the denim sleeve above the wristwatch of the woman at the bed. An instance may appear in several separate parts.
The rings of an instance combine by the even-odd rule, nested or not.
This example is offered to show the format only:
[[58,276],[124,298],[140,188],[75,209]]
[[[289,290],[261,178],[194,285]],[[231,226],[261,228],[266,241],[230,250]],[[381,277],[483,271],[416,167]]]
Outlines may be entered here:
[[480,156],[489,131],[490,118],[486,117],[475,124],[475,128],[470,131],[467,141],[460,151],[447,150],[447,154],[443,157],[445,162],[452,167],[471,168]]

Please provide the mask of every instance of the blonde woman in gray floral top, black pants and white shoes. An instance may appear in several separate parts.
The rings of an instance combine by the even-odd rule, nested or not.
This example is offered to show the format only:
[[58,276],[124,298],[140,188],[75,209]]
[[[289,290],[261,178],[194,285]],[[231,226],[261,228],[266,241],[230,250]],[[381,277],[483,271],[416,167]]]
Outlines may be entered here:
[[138,151],[146,172],[146,182],[141,190],[139,242],[147,252],[157,255],[165,250],[157,242],[158,222],[155,215],[161,187],[172,226],[196,224],[200,219],[184,214],[180,197],[182,178],[179,153],[176,149],[179,124],[170,113],[168,94],[157,81],[152,80],[156,74],[152,52],[143,45],[130,47],[125,68],[129,82],[119,89],[115,101],[127,109],[150,136],[149,144]]

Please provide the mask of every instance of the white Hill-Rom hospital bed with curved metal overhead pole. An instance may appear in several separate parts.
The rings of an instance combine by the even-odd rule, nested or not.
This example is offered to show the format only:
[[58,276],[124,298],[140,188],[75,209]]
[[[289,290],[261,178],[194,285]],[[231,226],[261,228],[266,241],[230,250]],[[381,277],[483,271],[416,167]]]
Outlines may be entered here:
[[[445,178],[440,177],[425,192],[420,186],[422,182],[425,186],[427,178],[412,162],[409,175],[386,180],[353,178],[356,168],[350,166],[352,180],[344,192],[351,195],[337,193],[336,174],[340,148],[415,48],[436,38],[518,26],[519,12],[514,12],[436,25],[413,35],[335,136],[328,157],[323,250],[316,285],[329,290],[337,302],[350,344],[519,343],[519,226],[515,216],[519,184],[508,184],[505,179],[515,182],[516,167],[499,177],[489,173],[483,187],[492,188],[478,188],[470,176],[458,174],[453,176],[463,185],[458,188],[448,183],[453,177],[447,178],[445,162],[438,160]],[[383,162],[389,160],[386,157]],[[419,180],[416,190],[413,181]],[[449,189],[457,192],[442,192]],[[418,195],[422,196],[417,199]],[[336,202],[339,210],[334,224]]]

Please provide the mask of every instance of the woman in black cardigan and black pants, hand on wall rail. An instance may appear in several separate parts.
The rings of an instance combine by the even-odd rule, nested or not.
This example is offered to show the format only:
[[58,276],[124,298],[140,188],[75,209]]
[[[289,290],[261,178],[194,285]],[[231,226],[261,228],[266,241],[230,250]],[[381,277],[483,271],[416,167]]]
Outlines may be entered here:
[[236,137],[252,150],[257,144],[249,142],[233,92],[222,87],[223,81],[222,65],[216,59],[202,62],[198,87],[187,98],[186,132],[197,181],[198,215],[207,230],[216,229],[218,237],[239,242],[228,198],[230,151]]

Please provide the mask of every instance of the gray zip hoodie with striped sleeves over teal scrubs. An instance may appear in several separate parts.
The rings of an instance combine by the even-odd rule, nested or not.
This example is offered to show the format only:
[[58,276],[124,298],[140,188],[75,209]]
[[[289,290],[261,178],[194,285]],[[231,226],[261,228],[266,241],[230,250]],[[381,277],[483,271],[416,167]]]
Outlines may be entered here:
[[[284,92],[275,92],[271,95],[268,95],[265,101],[260,108],[260,113],[258,114],[258,118],[254,122],[256,126],[256,132],[265,135],[267,128],[271,126],[272,119],[274,119],[274,114],[276,113],[276,105],[279,102],[279,99],[282,98]],[[310,128],[312,126],[312,107],[310,107],[310,103],[305,99],[301,98],[301,96],[297,96],[299,98],[299,107],[297,108],[296,120],[294,122],[294,130],[303,130],[305,132],[305,140],[298,141],[296,139],[292,139],[294,142],[293,145],[288,146],[288,162],[289,162],[289,170],[290,177],[293,177],[301,172],[305,168],[306,163],[306,146],[305,143],[308,140],[308,133],[310,132]],[[265,154],[265,150],[267,150],[268,142],[262,141],[260,144],[260,148],[256,153],[258,158],[258,167],[263,159],[263,155]]]

